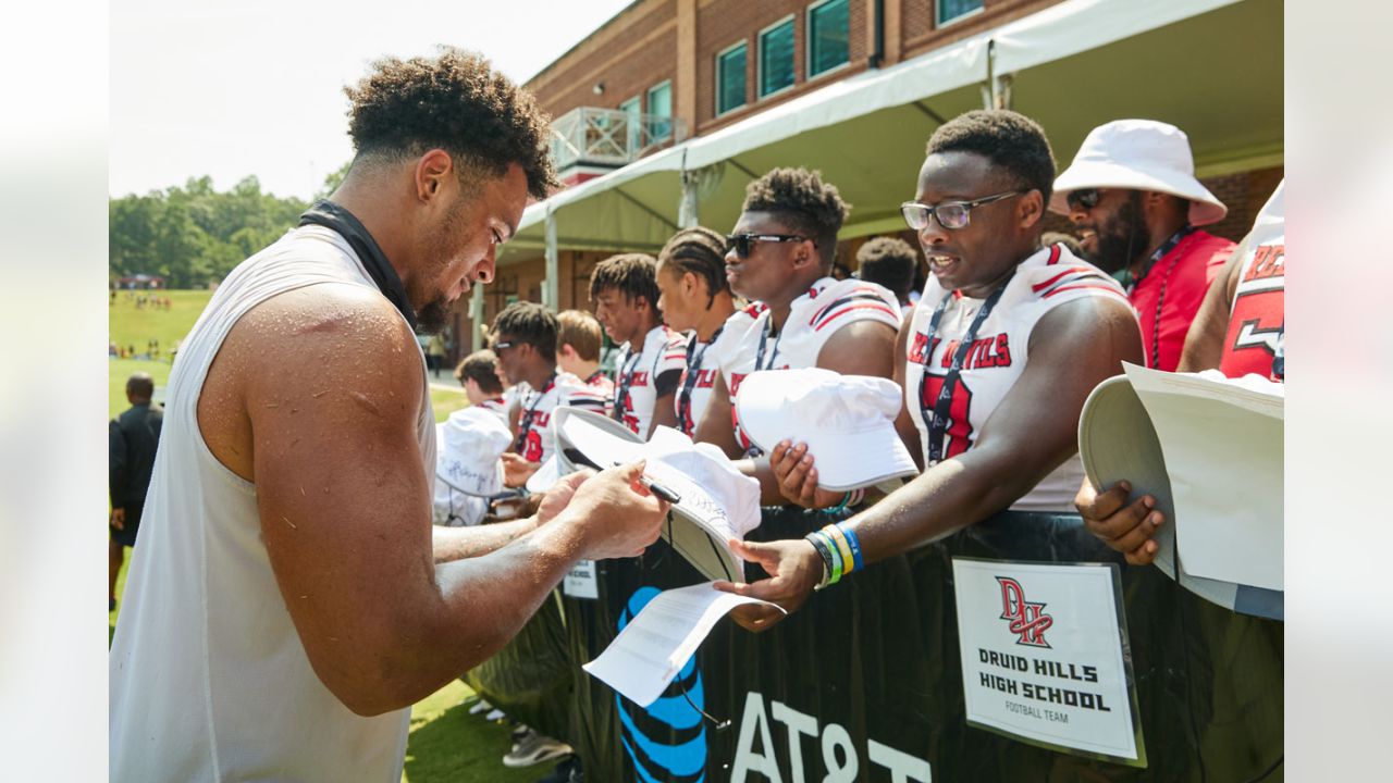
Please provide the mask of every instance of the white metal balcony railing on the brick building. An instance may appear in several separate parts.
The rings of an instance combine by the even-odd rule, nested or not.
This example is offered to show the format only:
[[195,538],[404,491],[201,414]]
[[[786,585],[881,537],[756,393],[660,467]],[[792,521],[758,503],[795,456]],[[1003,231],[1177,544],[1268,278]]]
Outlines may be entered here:
[[552,160],[571,166],[624,166],[687,138],[687,123],[657,114],[630,114],[581,106],[552,121]]

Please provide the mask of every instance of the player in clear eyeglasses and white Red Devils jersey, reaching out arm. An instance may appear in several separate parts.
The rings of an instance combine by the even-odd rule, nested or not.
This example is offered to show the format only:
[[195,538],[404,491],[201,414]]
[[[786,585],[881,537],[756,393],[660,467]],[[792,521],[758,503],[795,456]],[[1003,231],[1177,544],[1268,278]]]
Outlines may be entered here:
[[[872,563],[1006,509],[1068,511],[1082,474],[1078,415],[1141,329],[1120,286],[1060,245],[1041,247],[1055,159],[1014,111],[970,111],[933,132],[914,201],[903,205],[932,277],[896,343],[905,405],[897,429],[924,474],[846,522]],[[770,467],[790,500],[827,506],[802,444]],[[793,612],[823,581],[808,539],[737,545],[770,575],[719,587]],[[742,607],[745,609],[745,607]],[[737,612],[763,630],[781,614]]]

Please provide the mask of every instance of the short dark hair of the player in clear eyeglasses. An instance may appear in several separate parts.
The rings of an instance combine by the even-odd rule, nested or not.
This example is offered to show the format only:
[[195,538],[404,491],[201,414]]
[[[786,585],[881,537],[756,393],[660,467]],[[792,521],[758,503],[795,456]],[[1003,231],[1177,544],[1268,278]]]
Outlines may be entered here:
[[928,155],[974,152],[1034,188],[1049,203],[1055,188],[1055,153],[1035,120],[1009,109],[978,109],[949,120],[929,138]]

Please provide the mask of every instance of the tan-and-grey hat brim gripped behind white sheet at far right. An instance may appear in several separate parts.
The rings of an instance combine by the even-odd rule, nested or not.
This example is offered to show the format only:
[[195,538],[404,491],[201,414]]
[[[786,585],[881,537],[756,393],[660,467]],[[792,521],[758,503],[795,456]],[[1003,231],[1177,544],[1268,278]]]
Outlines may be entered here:
[[1131,499],[1151,495],[1166,524],[1156,528],[1158,568],[1190,592],[1233,612],[1280,620],[1283,594],[1252,585],[1208,580],[1176,568],[1176,503],[1166,471],[1166,456],[1141,397],[1126,375],[1098,385],[1084,401],[1078,419],[1078,454],[1094,486],[1107,489],[1121,479],[1133,486]]

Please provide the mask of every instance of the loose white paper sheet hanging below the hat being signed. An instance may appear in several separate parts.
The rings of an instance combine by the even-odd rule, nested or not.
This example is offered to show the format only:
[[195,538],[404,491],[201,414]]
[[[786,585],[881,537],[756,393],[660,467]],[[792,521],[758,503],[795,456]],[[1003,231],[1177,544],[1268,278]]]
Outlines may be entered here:
[[663,591],[584,669],[634,704],[648,706],[663,695],[716,621],[745,603],[775,606],[722,592],[712,582]]

